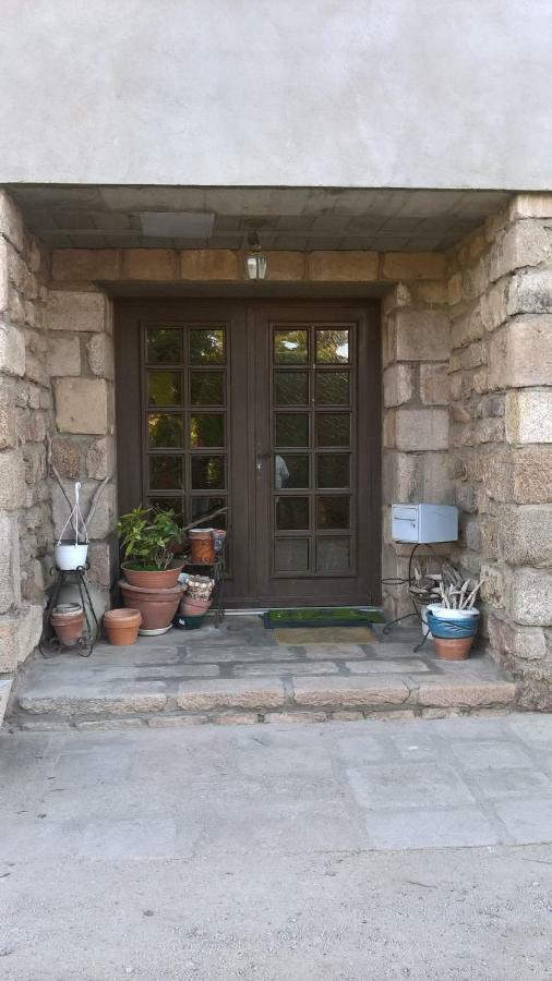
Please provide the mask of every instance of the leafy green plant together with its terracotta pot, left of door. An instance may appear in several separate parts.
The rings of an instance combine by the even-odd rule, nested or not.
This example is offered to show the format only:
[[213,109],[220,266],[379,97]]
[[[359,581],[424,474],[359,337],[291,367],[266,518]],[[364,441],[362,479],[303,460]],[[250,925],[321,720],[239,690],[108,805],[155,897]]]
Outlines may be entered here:
[[134,508],[119,518],[117,530],[127,582],[142,589],[176,586],[182,564],[176,561],[172,543],[182,535],[175,512],[157,508]]

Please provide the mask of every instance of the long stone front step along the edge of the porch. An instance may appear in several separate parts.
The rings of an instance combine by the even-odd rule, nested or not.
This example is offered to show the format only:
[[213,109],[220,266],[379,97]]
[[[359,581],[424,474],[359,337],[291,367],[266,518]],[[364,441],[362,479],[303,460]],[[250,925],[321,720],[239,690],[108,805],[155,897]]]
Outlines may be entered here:
[[[286,675],[151,681],[111,677],[31,680],[20,691],[12,724],[93,727],[119,720],[132,726],[200,723],[323,722],[338,718],[440,717],[505,712],[515,685],[499,671],[469,666],[441,676],[399,674]],[[36,725],[39,723],[39,725]]]

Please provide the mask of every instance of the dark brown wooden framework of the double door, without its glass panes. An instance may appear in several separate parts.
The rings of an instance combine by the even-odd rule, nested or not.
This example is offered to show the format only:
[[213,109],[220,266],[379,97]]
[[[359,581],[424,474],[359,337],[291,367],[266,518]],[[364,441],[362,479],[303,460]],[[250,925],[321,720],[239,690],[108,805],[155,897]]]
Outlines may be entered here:
[[[140,342],[136,342],[136,329],[140,322],[154,318],[167,320],[201,323],[205,319],[217,322],[232,322],[235,344],[235,363],[229,364],[230,403],[232,405],[233,423],[239,426],[239,432],[247,433],[245,440],[236,440],[229,445],[229,451],[233,460],[233,470],[240,486],[233,487],[235,499],[239,500],[241,534],[233,537],[233,568],[228,583],[229,595],[227,606],[229,608],[261,608],[271,605],[271,596],[260,597],[256,592],[257,574],[257,529],[260,524],[260,494],[254,467],[252,465],[252,447],[255,445],[256,416],[259,405],[259,386],[261,378],[255,372],[247,372],[245,384],[240,384],[236,377],[236,358],[239,355],[247,365],[254,364],[260,356],[259,346],[262,344],[261,331],[256,327],[260,312],[271,312],[271,319],[275,316],[295,317],[300,320],[304,317],[320,317],[321,312],[327,320],[344,318],[358,319],[364,323],[364,329],[359,330],[359,354],[361,347],[365,348],[362,360],[367,365],[369,377],[362,385],[359,378],[359,400],[357,402],[356,417],[359,427],[359,444],[365,448],[365,458],[362,460],[360,452],[357,455],[359,467],[359,480],[357,485],[358,513],[361,519],[357,526],[356,540],[358,543],[362,528],[368,528],[364,534],[367,554],[364,556],[367,589],[361,595],[349,595],[347,600],[336,597],[331,602],[324,600],[323,605],[362,604],[380,605],[381,603],[381,555],[382,555],[382,519],[381,519],[381,451],[382,451],[382,368],[381,368],[381,314],[377,300],[321,300],[281,299],[281,298],[192,298],[192,296],[145,296],[145,298],[118,298],[115,301],[115,349],[116,349],[116,438],[118,451],[118,500],[120,512],[125,512],[141,502],[142,488],[137,488],[136,470],[142,473],[143,443],[142,443],[142,365]],[[225,315],[226,312],[226,315]],[[242,325],[238,330],[238,323]],[[238,337],[239,335],[239,337]],[[237,347],[236,347],[237,346]],[[360,368],[359,358],[359,368]],[[241,374],[241,373],[240,373]],[[266,386],[265,386],[266,393]],[[268,419],[268,407],[265,409],[264,421]],[[230,438],[230,437],[229,437]],[[136,468],[136,448],[140,453],[140,467]],[[365,469],[362,472],[362,463]],[[370,464],[370,465],[369,465]],[[362,494],[359,494],[362,483]],[[215,496],[215,495],[213,495]],[[363,501],[363,504],[362,504]],[[363,507],[361,514],[360,508]],[[236,510],[236,508],[233,509]],[[262,510],[262,509],[261,509]],[[233,521],[233,516],[232,516]],[[247,534],[243,534],[243,531]],[[238,577],[239,581],[236,581]],[[232,597],[233,592],[239,597]],[[254,593],[254,595],[253,595]],[[280,596],[280,601],[281,601]],[[304,605],[322,605],[321,598],[312,596]],[[274,603],[276,605],[276,603]],[[289,596],[289,602],[279,605],[297,605]],[[303,605],[303,604],[302,604]]]

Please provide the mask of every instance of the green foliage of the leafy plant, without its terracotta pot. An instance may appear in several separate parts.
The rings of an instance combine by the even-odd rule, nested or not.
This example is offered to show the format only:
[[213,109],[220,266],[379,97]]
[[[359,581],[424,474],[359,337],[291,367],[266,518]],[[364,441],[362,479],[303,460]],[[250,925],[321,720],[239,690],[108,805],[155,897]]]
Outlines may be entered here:
[[122,514],[117,523],[125,561],[137,569],[164,571],[175,560],[170,548],[181,529],[175,522],[175,511],[156,508],[134,508]]

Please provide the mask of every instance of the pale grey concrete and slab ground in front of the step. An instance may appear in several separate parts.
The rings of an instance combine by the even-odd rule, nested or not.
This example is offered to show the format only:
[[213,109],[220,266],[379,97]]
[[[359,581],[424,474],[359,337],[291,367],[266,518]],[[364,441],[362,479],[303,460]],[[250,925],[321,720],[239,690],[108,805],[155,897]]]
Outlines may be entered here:
[[545,715],[3,731],[1,977],[550,979],[551,749]]

